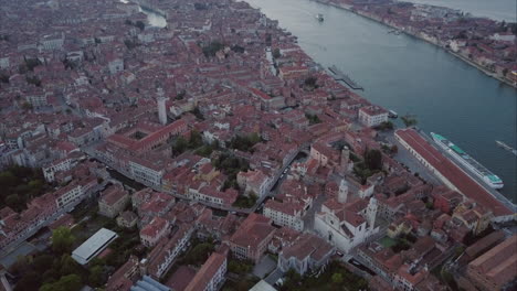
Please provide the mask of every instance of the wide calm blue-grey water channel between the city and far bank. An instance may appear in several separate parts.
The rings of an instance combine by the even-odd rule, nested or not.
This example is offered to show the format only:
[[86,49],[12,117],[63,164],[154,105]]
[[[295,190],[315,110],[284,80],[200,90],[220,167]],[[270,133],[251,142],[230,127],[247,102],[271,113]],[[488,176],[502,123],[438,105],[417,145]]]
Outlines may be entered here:
[[[502,193],[516,202],[517,90],[434,45],[351,12],[309,0],[246,0],[298,36],[318,63],[337,65],[366,88],[360,93],[399,115],[416,115],[419,127],[441,133],[495,174]],[[323,13],[319,23],[314,15]]]

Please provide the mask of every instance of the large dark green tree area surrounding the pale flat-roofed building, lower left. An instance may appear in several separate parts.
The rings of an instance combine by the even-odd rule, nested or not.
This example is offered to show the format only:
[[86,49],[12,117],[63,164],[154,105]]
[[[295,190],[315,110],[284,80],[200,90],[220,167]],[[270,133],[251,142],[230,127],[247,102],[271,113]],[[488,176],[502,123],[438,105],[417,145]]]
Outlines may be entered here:
[[[113,223],[113,219],[108,222]],[[114,223],[113,223],[114,224]],[[87,267],[80,266],[70,254],[84,240],[80,235],[84,223],[72,231],[59,227],[52,233],[52,247],[33,256],[20,257],[11,267],[10,272],[20,278],[14,291],[75,291],[84,284],[103,287],[109,273],[125,263],[130,255],[143,256],[138,230],[120,229],[112,224],[104,227],[115,229],[119,237],[109,245],[110,252],[105,258],[94,258]],[[89,233],[89,231],[86,231]],[[75,234],[75,235],[74,235]],[[82,237],[81,239],[77,238]]]

